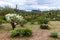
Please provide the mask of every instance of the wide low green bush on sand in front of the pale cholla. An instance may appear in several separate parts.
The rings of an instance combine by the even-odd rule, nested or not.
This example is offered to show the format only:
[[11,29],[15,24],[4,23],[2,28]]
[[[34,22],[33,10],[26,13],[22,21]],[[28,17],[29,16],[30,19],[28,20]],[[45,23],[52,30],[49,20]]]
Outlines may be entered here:
[[29,28],[17,28],[11,31],[11,37],[24,37],[24,36],[31,36],[32,30]]

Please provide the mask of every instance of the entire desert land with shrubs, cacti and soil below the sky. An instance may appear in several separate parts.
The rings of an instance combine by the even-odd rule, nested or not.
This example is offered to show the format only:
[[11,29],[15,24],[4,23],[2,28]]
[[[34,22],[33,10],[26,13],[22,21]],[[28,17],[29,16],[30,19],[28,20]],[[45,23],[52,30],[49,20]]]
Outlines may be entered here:
[[0,7],[0,40],[60,40],[60,10]]

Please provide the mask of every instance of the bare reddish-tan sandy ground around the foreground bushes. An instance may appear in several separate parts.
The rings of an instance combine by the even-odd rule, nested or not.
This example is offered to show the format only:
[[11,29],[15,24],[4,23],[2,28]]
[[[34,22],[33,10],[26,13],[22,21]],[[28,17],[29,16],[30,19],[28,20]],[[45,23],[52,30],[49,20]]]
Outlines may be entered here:
[[[33,30],[33,34],[31,37],[10,37],[11,25],[8,23],[3,24],[3,28],[0,29],[0,40],[60,40],[60,21],[51,21],[49,26],[50,30],[42,30],[40,29],[40,25],[31,25],[27,24],[29,28]],[[51,38],[49,37],[51,31],[58,32],[59,38]]]

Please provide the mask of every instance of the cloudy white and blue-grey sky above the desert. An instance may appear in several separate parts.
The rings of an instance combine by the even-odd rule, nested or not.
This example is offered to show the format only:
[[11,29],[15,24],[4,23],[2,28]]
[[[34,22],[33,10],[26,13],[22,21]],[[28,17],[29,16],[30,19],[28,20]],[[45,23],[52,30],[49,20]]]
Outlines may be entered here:
[[22,10],[60,9],[60,0],[0,0],[0,6],[9,5],[15,8],[16,4],[18,8]]

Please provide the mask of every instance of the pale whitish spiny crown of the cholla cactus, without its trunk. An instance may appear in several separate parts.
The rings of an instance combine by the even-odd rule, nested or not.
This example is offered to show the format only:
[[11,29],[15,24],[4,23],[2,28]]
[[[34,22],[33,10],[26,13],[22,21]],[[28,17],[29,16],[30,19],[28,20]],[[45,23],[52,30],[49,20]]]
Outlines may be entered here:
[[23,20],[23,17],[17,14],[6,14],[5,18],[8,22],[11,22],[12,20],[14,20],[14,22]]

